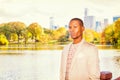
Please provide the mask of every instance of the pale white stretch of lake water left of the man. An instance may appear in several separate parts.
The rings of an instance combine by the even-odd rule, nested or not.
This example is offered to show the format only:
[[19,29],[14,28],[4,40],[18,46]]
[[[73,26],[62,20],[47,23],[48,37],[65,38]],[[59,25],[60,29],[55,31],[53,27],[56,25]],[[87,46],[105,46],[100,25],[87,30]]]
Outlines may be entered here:
[[0,55],[0,80],[59,80],[61,51],[24,50],[20,53],[22,55]]

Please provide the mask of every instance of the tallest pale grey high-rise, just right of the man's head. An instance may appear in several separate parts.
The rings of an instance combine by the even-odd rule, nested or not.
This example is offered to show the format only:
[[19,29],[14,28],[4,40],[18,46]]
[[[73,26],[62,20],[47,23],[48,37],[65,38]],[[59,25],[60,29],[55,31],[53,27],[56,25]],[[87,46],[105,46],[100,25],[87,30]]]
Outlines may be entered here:
[[94,29],[95,27],[95,17],[88,16],[87,8],[85,8],[85,12],[84,12],[84,26],[89,29]]

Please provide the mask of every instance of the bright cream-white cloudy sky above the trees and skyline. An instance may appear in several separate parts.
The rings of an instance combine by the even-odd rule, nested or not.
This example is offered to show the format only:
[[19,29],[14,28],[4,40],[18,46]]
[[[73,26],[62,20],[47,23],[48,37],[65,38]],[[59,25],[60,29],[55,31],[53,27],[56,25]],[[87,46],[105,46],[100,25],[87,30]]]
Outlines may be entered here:
[[50,17],[54,24],[64,26],[74,17],[83,19],[84,10],[88,15],[102,21],[113,16],[120,16],[120,0],[0,0],[0,24],[21,21],[26,25],[33,22],[49,28]]

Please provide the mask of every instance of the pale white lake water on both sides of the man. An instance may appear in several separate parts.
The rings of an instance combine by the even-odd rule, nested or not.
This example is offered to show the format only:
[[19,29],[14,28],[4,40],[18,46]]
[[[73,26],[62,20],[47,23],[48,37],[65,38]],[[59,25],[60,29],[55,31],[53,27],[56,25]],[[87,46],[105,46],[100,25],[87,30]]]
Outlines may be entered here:
[[[0,50],[0,80],[59,80],[62,50]],[[99,49],[101,71],[120,76],[120,50]]]

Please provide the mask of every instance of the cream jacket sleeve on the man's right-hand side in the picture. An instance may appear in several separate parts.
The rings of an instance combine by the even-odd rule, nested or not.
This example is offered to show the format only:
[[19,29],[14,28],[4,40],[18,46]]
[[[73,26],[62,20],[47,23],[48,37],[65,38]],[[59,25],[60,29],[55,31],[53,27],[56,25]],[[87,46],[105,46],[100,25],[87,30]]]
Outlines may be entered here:
[[99,56],[96,47],[89,48],[88,73],[90,80],[100,80]]

